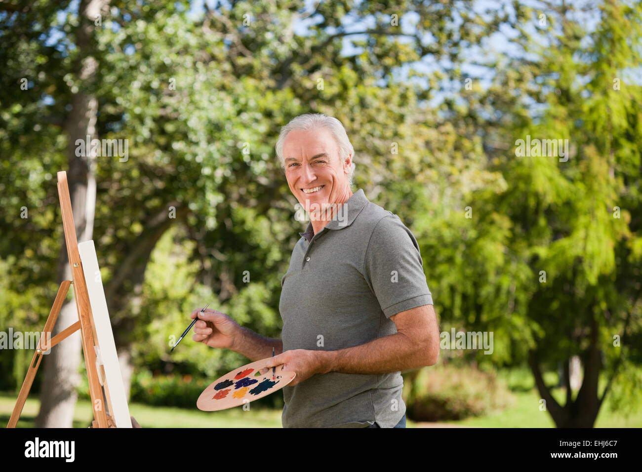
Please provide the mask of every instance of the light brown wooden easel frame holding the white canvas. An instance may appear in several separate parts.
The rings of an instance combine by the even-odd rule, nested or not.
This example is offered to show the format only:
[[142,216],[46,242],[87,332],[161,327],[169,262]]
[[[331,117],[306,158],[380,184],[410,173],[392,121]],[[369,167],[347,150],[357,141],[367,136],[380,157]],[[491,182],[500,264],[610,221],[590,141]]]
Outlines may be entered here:
[[[89,304],[89,293],[87,292],[87,283],[85,282],[85,275],[83,274],[82,262],[80,261],[80,254],[78,252],[78,240],[76,239],[76,227],[74,226],[74,217],[71,211],[71,200],[69,198],[69,186],[67,186],[67,173],[62,171],[58,172],[58,197],[60,198],[60,210],[62,211],[62,225],[65,233],[65,242],[67,243],[67,255],[69,256],[69,265],[71,266],[71,273],[73,274],[73,281],[65,280],[60,284],[58,294],[53,302],[49,317],[44,326],[43,333],[51,333],[53,326],[58,319],[58,313],[67,296],[69,285],[74,286],[74,298],[76,299],[76,309],[78,310],[78,321],[65,328],[58,333],[55,337],[51,338],[48,345],[43,345],[45,336],[40,337],[38,347],[33,353],[31,364],[27,374],[22,383],[18,399],[13,407],[13,412],[7,424],[7,428],[15,428],[18,423],[24,402],[27,399],[33,378],[35,378],[42,355],[44,351],[48,351],[51,347],[58,344],[60,341],[67,338],[69,335],[75,333],[80,329],[82,337],[82,349],[85,357],[85,366],[87,367],[87,378],[89,380],[89,394],[91,395],[91,402],[94,410],[94,421],[92,421],[93,428],[116,428],[112,417],[105,412],[107,403],[103,396],[101,387],[101,378],[98,376],[98,367],[96,367],[96,351],[94,346],[96,344],[96,326],[91,313],[91,306]],[[47,338],[45,338],[47,339]]]

